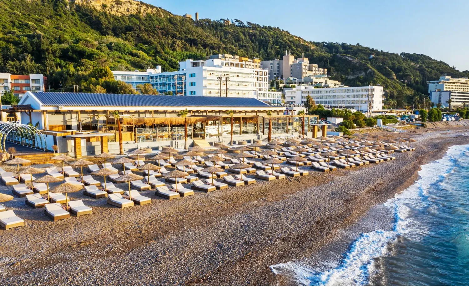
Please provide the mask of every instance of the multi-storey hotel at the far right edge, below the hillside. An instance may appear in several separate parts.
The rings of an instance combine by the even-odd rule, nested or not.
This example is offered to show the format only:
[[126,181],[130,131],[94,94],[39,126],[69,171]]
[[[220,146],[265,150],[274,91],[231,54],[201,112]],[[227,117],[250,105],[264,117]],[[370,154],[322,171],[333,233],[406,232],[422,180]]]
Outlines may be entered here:
[[469,79],[442,76],[438,81],[428,81],[428,92],[432,103],[446,103],[451,99],[451,108],[460,108],[469,104]]

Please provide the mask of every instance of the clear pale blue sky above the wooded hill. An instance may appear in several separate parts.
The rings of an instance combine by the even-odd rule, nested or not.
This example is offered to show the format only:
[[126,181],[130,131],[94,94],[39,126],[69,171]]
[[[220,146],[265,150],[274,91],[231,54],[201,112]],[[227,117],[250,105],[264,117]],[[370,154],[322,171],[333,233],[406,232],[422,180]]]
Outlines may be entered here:
[[279,1],[144,0],[173,14],[239,19],[285,29],[306,40],[408,52],[469,70],[469,0]]

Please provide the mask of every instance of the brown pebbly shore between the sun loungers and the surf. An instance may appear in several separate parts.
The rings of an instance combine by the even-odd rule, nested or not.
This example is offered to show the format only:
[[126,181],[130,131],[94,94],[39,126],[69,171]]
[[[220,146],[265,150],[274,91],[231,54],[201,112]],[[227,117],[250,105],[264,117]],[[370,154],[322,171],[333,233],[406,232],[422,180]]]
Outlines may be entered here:
[[[405,136],[415,135],[415,152],[325,174],[308,168],[299,181],[257,180],[171,201],[144,191],[151,204],[123,210],[78,192],[70,197],[93,214],[57,222],[15,197],[5,206],[26,226],[0,230],[0,285],[292,284],[269,265],[320,250],[410,185],[420,165],[468,144],[458,136],[467,131],[412,130]],[[11,194],[3,185],[0,191]]]

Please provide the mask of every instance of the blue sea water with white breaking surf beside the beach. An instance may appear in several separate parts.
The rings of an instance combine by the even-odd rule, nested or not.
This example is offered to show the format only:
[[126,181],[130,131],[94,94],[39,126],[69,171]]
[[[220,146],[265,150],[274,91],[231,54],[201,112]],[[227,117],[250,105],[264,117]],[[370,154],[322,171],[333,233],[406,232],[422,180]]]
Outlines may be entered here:
[[393,228],[361,234],[320,269],[287,262],[272,272],[300,285],[469,285],[469,145],[449,148],[419,176],[386,202]]

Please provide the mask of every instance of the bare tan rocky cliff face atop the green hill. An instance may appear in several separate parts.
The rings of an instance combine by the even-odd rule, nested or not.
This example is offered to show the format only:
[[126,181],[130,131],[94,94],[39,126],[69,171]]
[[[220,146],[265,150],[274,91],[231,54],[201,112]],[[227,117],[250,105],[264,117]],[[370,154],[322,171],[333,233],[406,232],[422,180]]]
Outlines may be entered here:
[[[165,10],[154,7],[144,2],[136,0],[71,0],[78,5],[88,5],[94,7],[98,11],[105,11],[114,15],[129,14],[156,14],[163,17]],[[165,12],[165,13],[164,13]]]

